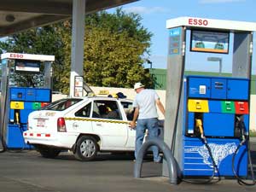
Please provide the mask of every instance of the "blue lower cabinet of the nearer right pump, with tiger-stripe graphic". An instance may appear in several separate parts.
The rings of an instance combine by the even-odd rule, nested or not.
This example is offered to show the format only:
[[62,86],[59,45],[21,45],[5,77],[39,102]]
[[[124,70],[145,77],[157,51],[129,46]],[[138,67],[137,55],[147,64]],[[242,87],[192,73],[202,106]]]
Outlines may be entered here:
[[[232,154],[248,135],[248,79],[186,77],[183,125],[183,176],[234,176]],[[243,131],[237,119],[243,119]],[[199,126],[198,121],[201,125]],[[199,129],[198,129],[199,127]],[[201,136],[203,132],[203,137]],[[205,141],[201,141],[203,138]],[[211,148],[210,157],[205,143]],[[212,161],[215,162],[212,162]],[[247,176],[247,145],[243,143],[233,165],[241,177]]]

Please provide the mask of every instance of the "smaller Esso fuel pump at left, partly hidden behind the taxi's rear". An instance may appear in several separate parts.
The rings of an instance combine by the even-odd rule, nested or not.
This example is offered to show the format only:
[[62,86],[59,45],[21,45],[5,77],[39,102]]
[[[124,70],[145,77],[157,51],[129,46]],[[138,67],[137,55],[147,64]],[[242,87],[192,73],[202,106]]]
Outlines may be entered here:
[[28,114],[51,102],[51,62],[54,55],[1,55],[0,136],[3,149],[32,148],[24,143]]

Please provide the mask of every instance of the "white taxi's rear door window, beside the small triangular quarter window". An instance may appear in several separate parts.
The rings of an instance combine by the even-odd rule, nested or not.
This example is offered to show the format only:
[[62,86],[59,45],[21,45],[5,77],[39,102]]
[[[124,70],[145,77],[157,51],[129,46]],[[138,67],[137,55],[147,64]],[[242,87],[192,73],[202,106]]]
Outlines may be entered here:
[[93,104],[93,117],[102,119],[122,119],[116,101],[97,100]]

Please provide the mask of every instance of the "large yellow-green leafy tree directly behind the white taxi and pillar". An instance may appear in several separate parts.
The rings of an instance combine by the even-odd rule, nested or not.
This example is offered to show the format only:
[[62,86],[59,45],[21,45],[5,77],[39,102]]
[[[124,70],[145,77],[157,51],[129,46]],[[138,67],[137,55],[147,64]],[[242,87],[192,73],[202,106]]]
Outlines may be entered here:
[[[132,87],[141,81],[153,85],[154,79],[143,68],[143,55],[149,55],[152,33],[142,26],[141,20],[139,15],[126,14],[122,9],[116,9],[114,14],[102,11],[86,16],[84,80],[87,84]],[[71,29],[70,21],[64,25]],[[67,27],[63,29],[66,49],[70,52],[71,36],[67,35]],[[65,63],[70,63],[70,57]],[[67,83],[68,79],[69,73],[65,73],[61,82]]]

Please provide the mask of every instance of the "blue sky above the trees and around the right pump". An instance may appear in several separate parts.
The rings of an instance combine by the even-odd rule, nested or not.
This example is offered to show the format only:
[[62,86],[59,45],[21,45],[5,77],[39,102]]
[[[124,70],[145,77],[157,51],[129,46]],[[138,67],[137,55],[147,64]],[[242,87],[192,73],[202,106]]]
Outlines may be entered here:
[[[255,0],[140,0],[122,6],[126,12],[135,12],[143,17],[142,25],[152,32],[149,60],[153,68],[166,68],[168,30],[166,20],[181,17],[200,17],[217,20],[239,20],[256,22]],[[253,36],[253,55],[256,58],[256,34]],[[223,57],[223,71],[229,72],[232,58],[230,55],[217,55]],[[207,71],[218,71],[218,65],[207,61],[200,55],[200,60],[189,60],[191,70],[200,70],[202,65],[209,67]],[[190,60],[191,59],[191,60]],[[256,59],[253,60],[253,73],[256,73]],[[189,65],[186,64],[186,65]],[[145,67],[149,67],[145,64]]]

